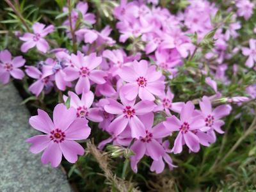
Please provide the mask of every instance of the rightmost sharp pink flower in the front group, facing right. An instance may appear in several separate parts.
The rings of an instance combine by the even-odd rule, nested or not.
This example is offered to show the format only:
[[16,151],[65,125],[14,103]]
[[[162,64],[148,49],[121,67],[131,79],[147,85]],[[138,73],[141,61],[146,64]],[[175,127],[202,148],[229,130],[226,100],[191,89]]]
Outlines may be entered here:
[[221,105],[212,110],[211,100],[204,96],[202,101],[199,102],[200,109],[202,111],[202,116],[204,116],[205,127],[209,127],[208,133],[212,136],[212,143],[216,141],[215,132],[223,134],[224,131],[221,130],[221,126],[225,124],[223,120],[220,120],[223,116],[230,114],[230,105]]

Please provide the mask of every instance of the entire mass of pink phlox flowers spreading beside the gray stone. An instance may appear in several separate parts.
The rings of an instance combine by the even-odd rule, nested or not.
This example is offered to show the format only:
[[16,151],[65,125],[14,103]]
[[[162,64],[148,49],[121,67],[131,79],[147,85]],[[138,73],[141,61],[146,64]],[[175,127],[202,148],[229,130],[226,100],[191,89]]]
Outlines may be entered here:
[[[237,1],[232,8],[237,14],[229,18],[227,25],[212,22],[219,13],[218,7],[209,1],[189,1],[189,6],[176,14],[157,4],[157,0],[147,3],[121,0],[113,8],[118,33],[115,40],[110,26],[101,31],[93,28],[95,15],[88,13],[87,3],[79,2],[72,12],[63,8],[63,13],[70,12],[70,18],[63,22],[65,34],[70,42],[76,38],[73,42],[79,45],[79,51],[51,49],[47,35],[57,32],[54,26],[45,27],[39,22],[33,24],[33,33],[19,37],[23,41],[20,51],[28,52],[36,47],[47,54],[45,60],[30,65],[22,56],[12,59],[9,51],[1,51],[0,81],[8,83],[10,76],[22,79],[24,72],[19,67],[26,62],[24,71],[33,81],[29,92],[39,97],[58,90],[63,93],[59,99],[68,103],[56,105],[53,122],[41,109],[29,119],[33,128],[45,133],[27,140],[32,144],[31,152],[38,154],[44,150],[42,163],[50,162],[56,167],[62,154],[67,161],[75,163],[77,155],[84,154],[84,148],[74,140],[86,140],[92,128],[109,134],[108,139],[99,143],[100,150],[109,143],[129,148],[133,151],[129,158],[134,172],[138,172],[141,159],[148,156],[152,159],[150,170],[161,173],[164,162],[170,169],[175,167],[170,154],[179,154],[183,148],[198,152],[201,145],[209,147],[216,141],[216,132],[223,134],[221,126],[225,122],[221,118],[229,115],[232,108],[229,104],[216,106],[216,101],[223,101],[217,80],[230,84],[223,61],[234,52],[241,51],[248,57],[246,67],[254,66],[256,40],[249,41],[250,48],[227,51],[228,42],[239,36],[237,30],[241,24],[236,22],[236,17],[249,19],[253,4]],[[196,51],[204,51],[203,44],[211,31],[215,44],[202,56],[198,70],[214,95],[204,93],[197,103],[191,98],[180,99],[172,92],[170,82],[180,68],[187,67],[186,61],[191,61]],[[196,42],[191,34],[196,36]],[[131,52],[127,54],[116,44],[129,44]],[[207,70],[205,61],[209,63]],[[255,84],[246,91],[251,98],[256,97]],[[225,102],[246,100],[247,97],[231,97]],[[89,121],[97,126],[90,128]]]

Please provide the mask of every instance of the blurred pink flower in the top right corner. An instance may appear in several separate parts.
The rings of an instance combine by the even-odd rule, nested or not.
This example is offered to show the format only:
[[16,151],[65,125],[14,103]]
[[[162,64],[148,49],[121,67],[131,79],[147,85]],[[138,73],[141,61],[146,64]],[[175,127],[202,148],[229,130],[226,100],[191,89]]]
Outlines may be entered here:
[[250,17],[252,17],[253,14],[253,6],[253,3],[251,3],[248,0],[237,0],[237,15],[240,17],[244,17],[245,20],[250,19]]

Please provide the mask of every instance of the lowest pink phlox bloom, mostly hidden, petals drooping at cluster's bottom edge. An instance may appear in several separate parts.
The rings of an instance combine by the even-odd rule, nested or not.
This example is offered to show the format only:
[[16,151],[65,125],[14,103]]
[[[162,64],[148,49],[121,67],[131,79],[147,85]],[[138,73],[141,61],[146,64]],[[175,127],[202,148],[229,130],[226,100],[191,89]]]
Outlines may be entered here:
[[150,166],[151,172],[156,172],[157,174],[162,173],[164,170],[164,161],[168,164],[168,167],[170,170],[173,170],[173,168],[177,167],[173,164],[172,158],[168,155],[168,153],[171,152],[169,149],[169,141],[166,140],[161,144],[164,147],[164,154],[161,156],[158,160],[154,160]]

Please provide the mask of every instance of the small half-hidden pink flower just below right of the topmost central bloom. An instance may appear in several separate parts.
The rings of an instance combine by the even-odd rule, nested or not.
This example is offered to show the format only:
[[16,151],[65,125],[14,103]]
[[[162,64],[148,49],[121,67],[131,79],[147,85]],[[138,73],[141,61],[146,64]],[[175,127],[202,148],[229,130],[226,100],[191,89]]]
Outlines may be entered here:
[[168,116],[171,116],[172,114],[170,113],[170,110],[176,112],[176,113],[180,113],[184,102],[172,102],[174,98],[173,93],[170,91],[170,88],[167,89],[167,92],[165,95],[162,95],[160,97],[160,102],[158,104],[158,106],[154,109],[154,111],[165,111],[165,113]]

